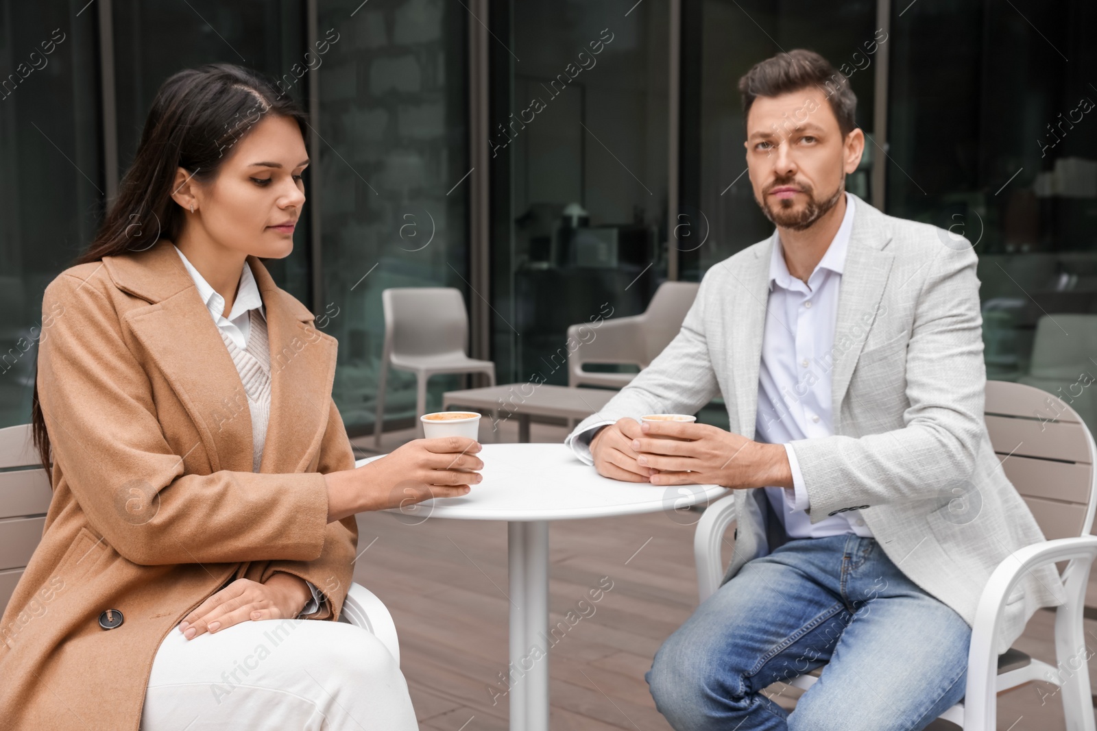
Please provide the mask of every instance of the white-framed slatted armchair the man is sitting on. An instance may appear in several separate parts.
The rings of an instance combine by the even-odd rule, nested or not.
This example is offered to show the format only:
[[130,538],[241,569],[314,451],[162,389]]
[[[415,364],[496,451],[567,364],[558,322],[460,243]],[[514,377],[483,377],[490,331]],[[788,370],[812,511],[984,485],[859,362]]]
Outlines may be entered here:
[[[1004,559],[983,589],[972,627],[964,700],[940,716],[965,731],[994,731],[997,694],[1038,679],[1059,686],[1070,731],[1094,731],[1089,673],[1084,660],[1071,661],[1076,661],[1079,649],[1086,647],[1083,609],[1089,567],[1097,558],[1097,536],[1090,535],[1097,507],[1097,446],[1073,409],[1054,397],[1051,402],[1055,411],[1049,409],[1049,396],[1022,384],[986,384],[984,411],[991,443],[1048,540],[1026,546]],[[1056,415],[1053,421],[1041,422],[1033,414]],[[724,574],[721,544],[734,522],[732,496],[714,502],[698,522],[693,553],[702,602],[720,587]],[[1067,603],[1055,608],[1055,655],[1060,667],[1013,648],[996,654],[994,637],[1006,597],[1027,571],[1056,561],[1070,561],[1061,574]],[[821,672],[812,671],[789,684],[806,690]]]

